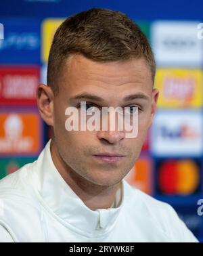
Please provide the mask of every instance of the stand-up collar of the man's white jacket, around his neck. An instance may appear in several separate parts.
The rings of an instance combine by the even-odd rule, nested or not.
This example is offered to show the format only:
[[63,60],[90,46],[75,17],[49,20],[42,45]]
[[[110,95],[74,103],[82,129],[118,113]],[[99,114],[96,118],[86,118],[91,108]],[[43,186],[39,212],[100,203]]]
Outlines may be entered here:
[[[122,210],[127,195],[127,182],[121,182],[120,204],[116,208],[97,209],[92,211],[79,198],[74,191],[66,184],[58,170],[55,168],[50,152],[51,140],[39,155],[32,167],[32,174],[35,189],[41,196],[41,200],[58,217],[68,222],[83,232],[108,232]],[[118,199],[118,192],[117,192]],[[117,202],[118,204],[118,202]]]

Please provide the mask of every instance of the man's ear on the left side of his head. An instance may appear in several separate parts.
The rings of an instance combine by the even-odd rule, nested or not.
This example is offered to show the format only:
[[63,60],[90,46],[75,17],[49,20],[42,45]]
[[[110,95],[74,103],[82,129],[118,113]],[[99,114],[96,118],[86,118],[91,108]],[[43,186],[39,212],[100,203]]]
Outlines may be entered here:
[[53,91],[47,85],[37,87],[37,106],[41,118],[47,125],[53,126]]

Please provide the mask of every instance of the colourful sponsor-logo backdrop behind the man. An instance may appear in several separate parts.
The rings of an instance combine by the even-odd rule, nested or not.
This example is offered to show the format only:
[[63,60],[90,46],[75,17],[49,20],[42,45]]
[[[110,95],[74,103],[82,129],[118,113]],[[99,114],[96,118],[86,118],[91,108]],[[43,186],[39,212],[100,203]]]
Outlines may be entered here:
[[154,87],[160,91],[152,129],[125,179],[170,203],[202,241],[202,5],[175,0],[1,1],[0,178],[35,161],[49,140],[35,90],[39,82],[46,83],[56,28],[67,16],[90,7],[120,10],[150,39],[158,66]]

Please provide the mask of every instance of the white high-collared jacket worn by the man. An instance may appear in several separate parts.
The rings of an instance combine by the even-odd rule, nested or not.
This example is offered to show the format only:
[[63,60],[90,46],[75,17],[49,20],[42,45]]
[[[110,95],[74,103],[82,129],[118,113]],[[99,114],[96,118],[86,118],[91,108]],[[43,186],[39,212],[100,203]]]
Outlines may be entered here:
[[0,242],[197,242],[170,205],[122,180],[116,208],[92,211],[53,165],[50,140],[34,163],[0,181]]

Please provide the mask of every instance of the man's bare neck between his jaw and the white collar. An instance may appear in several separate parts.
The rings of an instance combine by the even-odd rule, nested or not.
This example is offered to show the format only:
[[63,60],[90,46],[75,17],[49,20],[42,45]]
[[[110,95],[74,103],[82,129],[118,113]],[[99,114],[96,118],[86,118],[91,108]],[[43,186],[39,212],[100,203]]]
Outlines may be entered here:
[[54,139],[51,140],[51,158],[56,169],[74,193],[83,200],[92,211],[111,207],[121,183],[114,186],[100,186],[91,183],[71,169],[60,156]]

